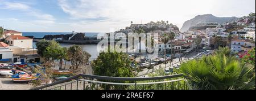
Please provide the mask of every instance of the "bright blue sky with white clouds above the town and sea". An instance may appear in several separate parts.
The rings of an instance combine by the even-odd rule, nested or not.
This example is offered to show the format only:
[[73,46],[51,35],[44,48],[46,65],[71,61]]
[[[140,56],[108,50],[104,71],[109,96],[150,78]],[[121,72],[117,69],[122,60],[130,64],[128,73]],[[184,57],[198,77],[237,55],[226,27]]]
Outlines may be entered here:
[[242,17],[255,0],[0,0],[0,26],[19,32],[113,32],[169,21],[181,28],[197,15]]

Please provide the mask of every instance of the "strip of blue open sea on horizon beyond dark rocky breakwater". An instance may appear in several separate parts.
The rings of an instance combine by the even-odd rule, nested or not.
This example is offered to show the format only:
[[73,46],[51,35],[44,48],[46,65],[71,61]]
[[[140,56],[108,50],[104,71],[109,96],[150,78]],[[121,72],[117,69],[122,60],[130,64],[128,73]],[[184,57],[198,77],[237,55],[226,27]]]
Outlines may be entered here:
[[[22,32],[22,36],[34,36],[35,38],[43,38],[46,35],[72,34],[71,32]],[[96,37],[99,33],[85,33],[86,37]]]

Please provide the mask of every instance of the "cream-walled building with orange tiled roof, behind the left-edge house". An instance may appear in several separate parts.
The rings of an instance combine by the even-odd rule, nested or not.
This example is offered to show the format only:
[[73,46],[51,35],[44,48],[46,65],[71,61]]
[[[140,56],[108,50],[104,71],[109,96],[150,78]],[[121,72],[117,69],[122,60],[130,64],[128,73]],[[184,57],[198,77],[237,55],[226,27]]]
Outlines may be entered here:
[[33,39],[23,36],[8,36],[5,38],[6,42],[10,46],[18,46],[23,49],[32,49],[33,48]]

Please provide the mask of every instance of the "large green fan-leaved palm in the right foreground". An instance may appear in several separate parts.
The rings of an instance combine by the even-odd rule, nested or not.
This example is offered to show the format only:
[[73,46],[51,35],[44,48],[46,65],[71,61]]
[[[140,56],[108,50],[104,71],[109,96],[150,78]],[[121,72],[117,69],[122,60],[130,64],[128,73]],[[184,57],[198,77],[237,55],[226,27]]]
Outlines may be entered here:
[[255,75],[248,77],[253,66],[241,64],[231,56],[204,56],[181,64],[180,71],[200,90],[255,90]]

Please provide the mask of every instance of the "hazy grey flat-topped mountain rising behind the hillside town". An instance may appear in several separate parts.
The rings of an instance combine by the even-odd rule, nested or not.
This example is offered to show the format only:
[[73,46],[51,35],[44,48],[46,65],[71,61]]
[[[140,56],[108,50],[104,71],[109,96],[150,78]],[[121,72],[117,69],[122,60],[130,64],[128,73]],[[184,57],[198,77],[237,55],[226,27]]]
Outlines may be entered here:
[[218,23],[223,24],[225,22],[230,22],[238,19],[237,17],[216,17],[212,14],[206,15],[197,15],[195,18],[185,21],[183,27],[180,29],[180,32],[186,32],[191,27],[195,27],[197,24],[201,23]]

